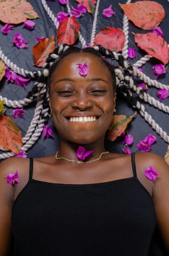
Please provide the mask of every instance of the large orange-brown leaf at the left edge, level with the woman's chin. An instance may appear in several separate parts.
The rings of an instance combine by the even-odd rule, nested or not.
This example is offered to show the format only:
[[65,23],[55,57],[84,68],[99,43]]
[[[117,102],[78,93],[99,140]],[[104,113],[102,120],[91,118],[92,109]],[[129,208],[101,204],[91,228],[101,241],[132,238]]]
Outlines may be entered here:
[[0,147],[19,154],[22,147],[22,137],[14,121],[3,114],[0,115]]

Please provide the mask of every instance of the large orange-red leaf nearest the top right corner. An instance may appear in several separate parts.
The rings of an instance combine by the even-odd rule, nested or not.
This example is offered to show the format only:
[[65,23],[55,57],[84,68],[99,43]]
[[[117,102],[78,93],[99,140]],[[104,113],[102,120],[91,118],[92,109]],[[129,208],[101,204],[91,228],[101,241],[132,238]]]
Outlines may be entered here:
[[145,30],[157,27],[165,18],[164,8],[154,1],[137,1],[119,5],[129,20]]

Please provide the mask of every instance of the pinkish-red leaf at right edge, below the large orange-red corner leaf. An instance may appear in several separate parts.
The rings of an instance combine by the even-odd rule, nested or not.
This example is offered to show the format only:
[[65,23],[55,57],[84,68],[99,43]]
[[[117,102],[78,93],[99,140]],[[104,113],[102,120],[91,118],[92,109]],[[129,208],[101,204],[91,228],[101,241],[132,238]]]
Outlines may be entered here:
[[[132,32],[133,33],[133,32]],[[137,45],[145,50],[148,54],[152,55],[164,64],[169,61],[169,47],[167,42],[154,33],[135,34],[133,33]]]

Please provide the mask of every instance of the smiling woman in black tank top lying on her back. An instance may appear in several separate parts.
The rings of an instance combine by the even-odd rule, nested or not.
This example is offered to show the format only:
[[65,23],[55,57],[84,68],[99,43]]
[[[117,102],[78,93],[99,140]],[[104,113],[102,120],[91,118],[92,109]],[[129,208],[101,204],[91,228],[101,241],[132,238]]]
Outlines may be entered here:
[[[12,233],[17,256],[146,256],[156,224],[169,252],[169,166],[154,153],[107,152],[114,67],[95,49],[67,48],[43,73],[59,151],[1,163],[0,256]],[[85,164],[79,146],[92,151]],[[161,173],[155,181],[149,166]],[[16,170],[19,184],[10,186],[3,177]]]

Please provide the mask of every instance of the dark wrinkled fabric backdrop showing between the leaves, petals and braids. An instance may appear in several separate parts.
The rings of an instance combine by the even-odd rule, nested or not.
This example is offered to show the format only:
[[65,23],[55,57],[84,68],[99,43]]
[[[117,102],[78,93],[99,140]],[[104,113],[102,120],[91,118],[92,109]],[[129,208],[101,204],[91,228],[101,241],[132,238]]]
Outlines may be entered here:
[[[27,69],[28,71],[36,71],[40,70],[40,68],[37,68],[35,66],[32,67],[34,64],[33,61],[33,54],[32,54],[32,47],[36,44],[35,37],[52,37],[54,34],[57,35],[56,27],[52,20],[49,18],[47,12],[42,6],[42,3],[40,0],[28,0],[35,9],[35,11],[38,13],[40,19],[35,19],[34,22],[36,23],[36,26],[33,30],[28,30],[25,26],[16,25],[8,35],[3,35],[0,33],[0,46],[3,53],[12,61],[13,63],[17,64],[19,68]],[[120,3],[124,4],[125,0],[120,0]],[[169,43],[169,33],[168,33],[168,23],[169,23],[169,2],[167,0],[158,0],[156,1],[160,3],[163,8],[165,9],[165,19],[160,24],[160,27],[163,31],[163,38],[166,40],[167,43]],[[54,14],[58,13],[59,11],[67,12],[66,6],[61,5],[58,0],[51,0],[46,2],[49,6],[49,8],[52,10]],[[76,8],[77,2],[70,0],[70,4],[73,5],[73,7]],[[116,12],[111,18],[105,18],[102,14],[102,10],[104,8],[107,8],[112,4],[113,11]],[[92,23],[93,23],[94,17],[86,13],[82,17],[78,18],[77,21],[80,24],[80,32],[82,36],[85,38],[86,42],[90,42],[91,38],[91,31],[92,31]],[[0,23],[0,28],[4,25],[4,23]],[[115,27],[115,28],[121,28],[123,29],[123,10],[120,8],[118,1],[110,1],[110,0],[104,0],[100,1],[99,6],[99,15],[98,15],[98,23],[97,23],[97,29],[96,33],[98,33],[101,29],[103,29],[106,26]],[[128,47],[130,48],[136,48],[136,58],[133,60],[128,59],[131,63],[136,62],[139,60],[142,56],[145,55],[145,52],[141,50],[134,42],[134,36],[131,32],[134,33],[147,33],[152,32],[152,30],[146,31],[142,30],[140,28],[137,28],[132,22],[129,22],[129,44]],[[23,40],[28,40],[28,49],[18,49],[16,46],[11,44],[13,41],[13,36],[19,33],[22,35]],[[76,42],[76,45],[81,47],[80,42]],[[56,44],[57,46],[57,44]],[[114,63],[117,65],[117,63]],[[147,64],[142,66],[143,71],[146,75],[148,75],[151,79],[155,79],[156,75],[152,74],[152,66],[156,64],[162,64],[161,61],[152,58]],[[158,81],[164,84],[168,84],[169,80],[169,71],[166,70],[166,74],[162,74],[159,76]],[[26,85],[26,88],[16,85],[15,83],[10,83],[6,81],[6,78],[4,77],[2,81],[0,82],[0,94],[3,97],[6,97],[7,99],[11,100],[19,100],[26,97],[27,92],[31,90],[31,88],[34,85],[33,79],[31,79],[30,84]],[[138,80],[138,83],[143,83],[143,81]],[[158,91],[154,86],[148,86],[148,93],[153,96],[154,98],[160,100],[157,98],[157,94],[155,91]],[[168,127],[168,114],[160,111],[158,108],[155,108],[153,106],[150,106],[149,103],[144,102],[141,100],[142,103],[145,105],[146,110],[149,114],[151,114],[152,118],[162,127],[164,131],[166,131],[169,134],[169,127]],[[163,99],[162,101],[165,105],[169,105],[169,98]],[[6,107],[6,115],[10,116],[15,123],[18,125],[19,129],[21,130],[22,137],[25,135],[26,131],[28,130],[28,127],[31,123],[31,120],[33,118],[34,109],[36,105],[36,99],[30,103],[28,106],[24,107],[25,114],[24,118],[14,118],[12,113],[12,108]],[[135,113],[135,109],[132,108],[132,106],[126,101],[126,98],[123,95],[120,95],[117,97],[116,100],[116,110],[117,114],[125,114],[125,115],[132,115]],[[54,138],[49,138],[46,140],[43,138],[43,135],[41,134],[39,140],[33,145],[33,147],[28,151],[28,157],[34,157],[34,158],[40,158],[44,156],[48,156],[51,154],[56,153],[56,151],[59,149],[59,137],[57,134],[57,131],[53,125],[49,121],[47,125],[50,125],[52,127]],[[139,143],[139,139],[144,140],[145,137],[151,133],[156,136],[157,142],[154,143],[151,147],[151,152],[154,152],[156,154],[159,154],[160,156],[164,157],[168,144],[164,142],[164,140],[160,137],[159,134],[156,133],[156,131],[149,125],[148,122],[145,121],[145,119],[137,113],[136,116],[133,118],[133,120],[129,123],[127,126],[127,130],[130,134],[134,137],[134,143],[132,147],[129,146],[131,152],[140,152],[140,150],[136,147],[136,143]],[[115,142],[110,142],[108,140],[105,140],[105,146],[106,149],[110,150],[111,152],[117,152],[122,153],[122,147],[123,147],[123,139],[124,137],[119,137],[115,140]],[[0,151],[0,153],[3,153]],[[167,255],[166,252],[164,252],[164,247],[162,245],[162,241],[160,237],[158,237],[158,233],[154,233],[154,237],[152,239],[151,247],[150,247],[151,255]]]

